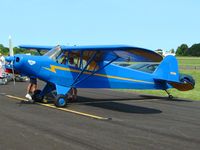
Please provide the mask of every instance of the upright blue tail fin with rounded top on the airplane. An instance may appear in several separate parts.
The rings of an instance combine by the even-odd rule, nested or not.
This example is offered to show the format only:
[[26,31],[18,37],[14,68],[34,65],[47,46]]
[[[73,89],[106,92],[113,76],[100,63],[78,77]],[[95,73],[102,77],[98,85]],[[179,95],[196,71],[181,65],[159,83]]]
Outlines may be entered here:
[[179,82],[178,62],[174,56],[168,55],[153,73],[155,80]]

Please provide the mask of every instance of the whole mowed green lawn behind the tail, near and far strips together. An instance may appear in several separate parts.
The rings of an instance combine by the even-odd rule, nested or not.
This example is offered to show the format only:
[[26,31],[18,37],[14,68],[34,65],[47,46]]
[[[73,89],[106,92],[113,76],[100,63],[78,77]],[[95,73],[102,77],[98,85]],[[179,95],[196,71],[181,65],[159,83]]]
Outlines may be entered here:
[[[179,66],[200,66],[200,57],[177,57]],[[169,92],[177,98],[200,100],[200,70],[180,70],[180,73],[192,75],[196,81],[195,88],[190,91],[181,92],[176,89],[170,89]],[[162,90],[128,90],[143,94],[152,94],[158,96],[167,96]]]

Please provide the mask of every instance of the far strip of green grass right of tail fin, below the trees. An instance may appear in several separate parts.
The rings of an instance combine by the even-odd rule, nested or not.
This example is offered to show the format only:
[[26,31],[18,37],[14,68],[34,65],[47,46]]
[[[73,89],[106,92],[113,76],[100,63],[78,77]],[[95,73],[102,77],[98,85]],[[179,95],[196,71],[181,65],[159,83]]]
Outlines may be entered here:
[[200,66],[200,57],[176,57],[179,66]]

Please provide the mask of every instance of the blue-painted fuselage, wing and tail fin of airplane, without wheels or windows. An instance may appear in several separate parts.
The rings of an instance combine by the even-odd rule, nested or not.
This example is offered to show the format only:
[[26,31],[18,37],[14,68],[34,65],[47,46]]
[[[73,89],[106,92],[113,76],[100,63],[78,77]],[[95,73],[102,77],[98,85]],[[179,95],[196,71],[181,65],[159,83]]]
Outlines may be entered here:
[[[51,46],[21,46],[23,48],[36,48],[49,50]],[[80,58],[83,57],[83,51],[92,50],[95,53],[101,52],[101,58],[95,60],[99,68],[97,72],[83,70],[81,68],[71,67],[57,63],[47,56],[29,56],[17,54],[13,58],[14,69],[27,76],[35,76],[45,82],[47,85],[42,90],[43,95],[56,89],[57,94],[66,94],[71,87],[76,88],[112,88],[112,89],[168,89],[172,88],[171,82],[180,83],[177,60],[173,56],[167,56],[158,66],[154,73],[146,73],[139,70],[133,70],[114,64],[106,66],[107,61],[115,58],[122,59],[130,56],[134,61],[152,61],[159,60],[160,55],[153,51],[130,47],[124,45],[114,46],[61,46],[64,51],[81,51]],[[139,55],[141,54],[141,55]],[[147,57],[149,54],[151,57]],[[118,60],[119,60],[118,59]],[[83,62],[80,61],[80,64]],[[87,65],[86,65],[87,67]],[[85,67],[85,68],[86,68]],[[80,74],[82,72],[82,74]],[[94,73],[90,76],[90,74]],[[51,88],[48,86],[51,85]],[[61,102],[62,103],[62,100]]]

